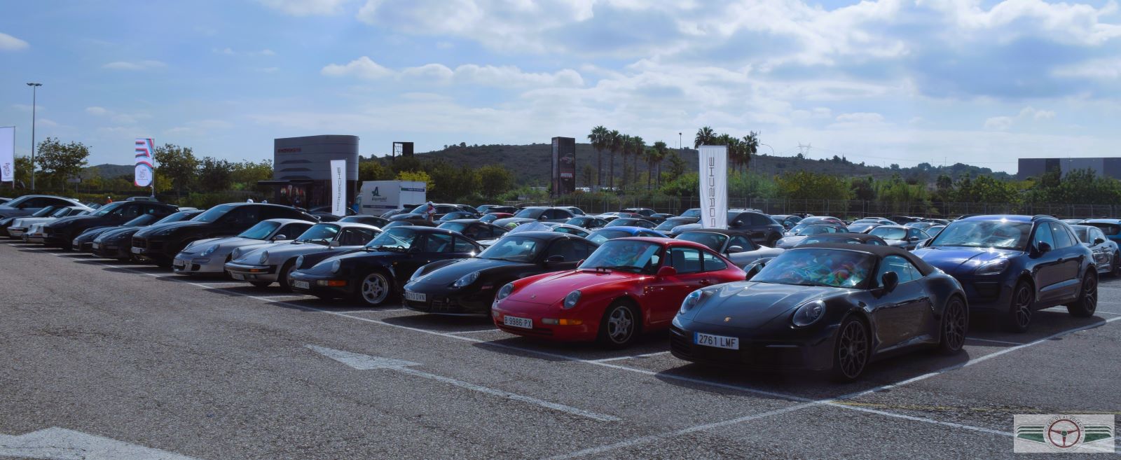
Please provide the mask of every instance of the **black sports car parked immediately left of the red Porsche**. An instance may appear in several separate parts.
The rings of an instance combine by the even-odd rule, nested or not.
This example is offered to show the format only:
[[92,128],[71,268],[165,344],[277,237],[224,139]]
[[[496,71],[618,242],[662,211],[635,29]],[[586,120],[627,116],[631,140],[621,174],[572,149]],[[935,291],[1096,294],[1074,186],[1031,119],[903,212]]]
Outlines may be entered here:
[[536,274],[572,270],[599,247],[556,232],[509,235],[478,257],[433,262],[405,284],[405,307],[426,313],[490,315],[498,289]]

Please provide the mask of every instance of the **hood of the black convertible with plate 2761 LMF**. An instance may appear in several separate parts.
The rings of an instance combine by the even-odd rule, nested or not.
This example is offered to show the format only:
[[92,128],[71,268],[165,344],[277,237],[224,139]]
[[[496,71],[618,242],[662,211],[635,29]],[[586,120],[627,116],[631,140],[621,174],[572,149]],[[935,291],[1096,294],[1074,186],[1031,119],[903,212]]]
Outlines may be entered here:
[[851,291],[844,288],[738,281],[706,290],[701,304],[684,317],[705,325],[754,329],[776,318],[789,316],[803,303]]

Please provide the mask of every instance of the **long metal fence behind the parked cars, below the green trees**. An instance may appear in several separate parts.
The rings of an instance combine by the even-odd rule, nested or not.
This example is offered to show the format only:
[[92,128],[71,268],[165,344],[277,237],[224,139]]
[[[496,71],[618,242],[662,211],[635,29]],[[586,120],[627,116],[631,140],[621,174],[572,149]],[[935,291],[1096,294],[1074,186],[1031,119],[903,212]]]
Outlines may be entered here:
[[[526,206],[576,206],[585,213],[599,214],[629,207],[651,208],[659,213],[680,214],[700,207],[700,197],[611,197],[604,195],[572,195],[544,201],[511,201]],[[1059,218],[1118,217],[1121,205],[1060,205],[1060,204],[1001,204],[1001,203],[939,203],[939,201],[862,201],[832,199],[729,198],[729,208],[759,209],[766,214],[809,213],[836,217],[919,216],[953,218],[966,214],[1046,214]]]

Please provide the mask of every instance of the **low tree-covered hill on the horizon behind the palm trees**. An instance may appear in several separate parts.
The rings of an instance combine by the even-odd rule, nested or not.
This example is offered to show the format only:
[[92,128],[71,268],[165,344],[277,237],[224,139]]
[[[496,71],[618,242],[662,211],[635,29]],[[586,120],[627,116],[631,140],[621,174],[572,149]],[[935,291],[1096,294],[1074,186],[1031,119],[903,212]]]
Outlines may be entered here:
[[[519,184],[546,185],[549,181],[550,156],[553,145],[548,143],[531,143],[528,145],[450,145],[443,150],[417,153],[420,159],[443,160],[455,167],[483,165],[502,165],[513,171]],[[673,149],[676,151],[676,149]],[[688,171],[697,170],[697,151],[684,149],[680,157],[685,160]],[[603,152],[604,177],[610,170],[610,156]],[[632,161],[627,159],[628,165]],[[581,172],[584,165],[595,166],[595,150],[589,143],[576,144],[576,177],[577,187],[587,186],[583,184]],[[666,171],[668,161],[663,165]],[[615,156],[615,176],[622,175],[622,157]],[[799,157],[775,157],[769,154],[756,154],[751,158],[749,170],[767,176],[780,175],[787,171],[806,170],[818,173],[828,173],[842,177],[874,177],[877,179],[890,178],[893,175],[908,179],[912,184],[933,184],[939,175],[948,175],[954,179],[969,173],[972,177],[988,175],[997,179],[1008,180],[1012,177],[1007,172],[993,172],[989,168],[980,168],[970,165],[956,163],[947,167],[935,167],[929,163],[919,163],[910,168],[879,167],[864,163],[854,163],[841,157],[828,159],[810,159]],[[639,160],[639,171],[645,176],[646,165]]]

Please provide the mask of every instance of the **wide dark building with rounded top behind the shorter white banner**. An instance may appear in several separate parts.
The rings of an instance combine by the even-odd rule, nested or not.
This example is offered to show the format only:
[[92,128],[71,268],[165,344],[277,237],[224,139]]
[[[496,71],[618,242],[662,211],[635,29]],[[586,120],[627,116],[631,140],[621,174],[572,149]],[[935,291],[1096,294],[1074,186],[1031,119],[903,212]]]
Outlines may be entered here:
[[274,203],[304,208],[331,204],[331,160],[346,161],[346,203],[358,186],[356,135],[305,135],[272,140]]

